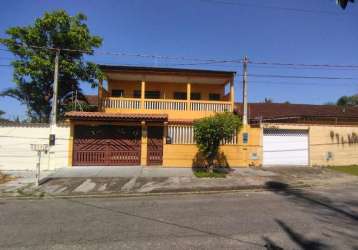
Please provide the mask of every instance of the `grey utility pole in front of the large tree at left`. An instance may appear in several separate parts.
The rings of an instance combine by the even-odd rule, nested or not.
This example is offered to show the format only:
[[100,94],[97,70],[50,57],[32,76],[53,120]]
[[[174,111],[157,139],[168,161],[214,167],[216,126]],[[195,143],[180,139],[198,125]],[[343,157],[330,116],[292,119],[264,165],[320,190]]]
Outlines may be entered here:
[[[57,124],[57,93],[58,93],[58,64],[60,57],[60,49],[56,49],[55,56],[55,73],[53,80],[52,109],[50,114],[50,136],[49,146],[52,147],[56,143],[56,124]],[[49,152],[49,167],[51,166],[51,150]]]

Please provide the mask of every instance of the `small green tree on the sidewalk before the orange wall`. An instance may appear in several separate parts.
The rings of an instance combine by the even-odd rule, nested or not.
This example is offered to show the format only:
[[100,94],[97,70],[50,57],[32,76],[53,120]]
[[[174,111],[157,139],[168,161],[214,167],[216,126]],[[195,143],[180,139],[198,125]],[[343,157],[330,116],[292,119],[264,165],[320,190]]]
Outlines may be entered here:
[[207,161],[206,166],[209,171],[213,171],[214,160],[219,154],[221,142],[231,140],[241,126],[241,119],[229,112],[205,117],[194,122],[194,139],[199,152]]

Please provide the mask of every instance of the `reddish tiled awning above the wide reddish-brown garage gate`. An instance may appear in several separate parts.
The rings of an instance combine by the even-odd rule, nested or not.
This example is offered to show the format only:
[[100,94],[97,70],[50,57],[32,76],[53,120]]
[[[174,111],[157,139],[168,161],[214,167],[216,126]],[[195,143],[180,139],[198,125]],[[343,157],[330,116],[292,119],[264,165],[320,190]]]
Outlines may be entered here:
[[71,111],[65,114],[66,118],[75,121],[167,121],[165,114],[116,114],[104,112]]

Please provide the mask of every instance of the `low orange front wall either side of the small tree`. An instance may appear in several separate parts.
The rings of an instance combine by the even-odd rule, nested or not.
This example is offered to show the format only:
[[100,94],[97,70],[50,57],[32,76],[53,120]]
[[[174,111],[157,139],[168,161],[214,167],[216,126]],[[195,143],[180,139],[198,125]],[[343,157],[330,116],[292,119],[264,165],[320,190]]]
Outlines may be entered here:
[[[261,129],[243,128],[238,136],[238,145],[223,145],[221,152],[224,153],[230,167],[247,167],[261,165]],[[243,144],[243,133],[249,134],[247,144]],[[198,148],[188,144],[166,144],[163,152],[164,167],[192,167]],[[257,155],[256,159],[252,154]]]

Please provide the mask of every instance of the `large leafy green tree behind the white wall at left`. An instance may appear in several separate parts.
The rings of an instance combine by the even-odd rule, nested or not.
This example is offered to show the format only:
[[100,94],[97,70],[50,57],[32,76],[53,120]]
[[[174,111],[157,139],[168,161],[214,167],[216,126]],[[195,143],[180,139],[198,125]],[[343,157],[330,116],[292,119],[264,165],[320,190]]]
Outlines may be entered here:
[[[26,105],[27,114],[33,122],[48,122],[53,97],[53,73],[55,51],[61,49],[59,59],[59,112],[74,91],[82,96],[80,81],[95,87],[96,79],[102,77],[98,66],[86,62],[84,55],[92,55],[93,49],[102,44],[102,38],[92,36],[79,13],[68,15],[64,10],[45,13],[34,24],[9,28],[8,38],[0,39],[15,56],[13,80],[16,87],[1,93]],[[63,50],[65,49],[65,50]]]

